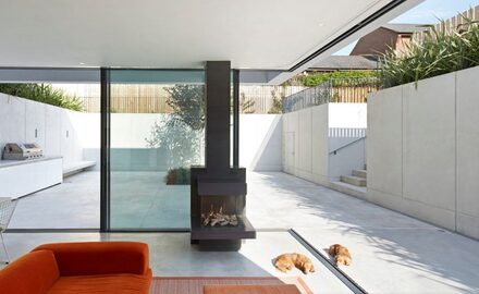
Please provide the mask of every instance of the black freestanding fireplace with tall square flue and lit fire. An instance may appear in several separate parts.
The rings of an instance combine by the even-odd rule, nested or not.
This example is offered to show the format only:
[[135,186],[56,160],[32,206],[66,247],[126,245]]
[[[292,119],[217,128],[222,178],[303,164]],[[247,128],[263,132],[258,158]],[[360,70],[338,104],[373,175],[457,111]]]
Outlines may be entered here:
[[200,250],[238,250],[256,237],[245,211],[246,170],[237,160],[230,166],[230,73],[228,61],[206,64],[206,166],[192,167],[191,184],[191,240]]

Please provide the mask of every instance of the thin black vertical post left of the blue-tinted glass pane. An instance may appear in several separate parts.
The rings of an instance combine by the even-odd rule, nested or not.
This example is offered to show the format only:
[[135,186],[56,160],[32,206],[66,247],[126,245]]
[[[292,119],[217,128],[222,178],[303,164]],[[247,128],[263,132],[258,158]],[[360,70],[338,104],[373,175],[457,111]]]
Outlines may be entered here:
[[100,69],[100,232],[110,231],[110,70]]

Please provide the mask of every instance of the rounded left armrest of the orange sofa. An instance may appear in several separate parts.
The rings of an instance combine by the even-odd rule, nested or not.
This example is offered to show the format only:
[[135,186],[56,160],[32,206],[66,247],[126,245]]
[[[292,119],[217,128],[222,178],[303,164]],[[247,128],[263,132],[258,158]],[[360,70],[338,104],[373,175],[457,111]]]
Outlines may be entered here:
[[44,294],[59,279],[51,252],[27,254],[0,271],[1,294]]

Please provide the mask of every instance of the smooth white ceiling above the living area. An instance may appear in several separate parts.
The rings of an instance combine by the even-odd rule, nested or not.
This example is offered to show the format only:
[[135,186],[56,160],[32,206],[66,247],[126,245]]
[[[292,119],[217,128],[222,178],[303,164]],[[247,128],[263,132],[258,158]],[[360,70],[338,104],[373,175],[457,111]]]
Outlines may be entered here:
[[285,70],[388,2],[0,0],[0,66]]

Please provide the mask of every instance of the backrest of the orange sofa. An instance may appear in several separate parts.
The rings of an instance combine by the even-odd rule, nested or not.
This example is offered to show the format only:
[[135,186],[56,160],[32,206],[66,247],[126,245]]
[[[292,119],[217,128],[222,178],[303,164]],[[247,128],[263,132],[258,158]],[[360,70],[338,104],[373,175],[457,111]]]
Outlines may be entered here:
[[148,245],[138,242],[53,243],[36,250],[51,250],[61,277],[133,273],[148,274]]

